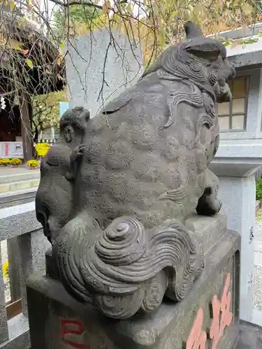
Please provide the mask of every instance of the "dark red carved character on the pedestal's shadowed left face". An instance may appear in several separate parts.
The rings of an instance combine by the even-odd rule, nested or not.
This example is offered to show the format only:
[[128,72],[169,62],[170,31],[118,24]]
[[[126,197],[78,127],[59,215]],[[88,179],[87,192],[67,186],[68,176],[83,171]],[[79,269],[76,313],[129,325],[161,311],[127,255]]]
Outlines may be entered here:
[[61,319],[61,339],[68,346],[77,349],[89,349],[87,343],[81,343],[85,329],[78,320]]

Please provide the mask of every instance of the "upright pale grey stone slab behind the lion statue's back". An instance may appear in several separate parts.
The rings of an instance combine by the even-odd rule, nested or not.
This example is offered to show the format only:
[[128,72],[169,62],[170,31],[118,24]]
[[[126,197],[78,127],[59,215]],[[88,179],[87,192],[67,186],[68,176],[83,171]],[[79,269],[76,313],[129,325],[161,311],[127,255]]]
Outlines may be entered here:
[[67,48],[69,104],[83,105],[91,117],[143,73],[140,45],[117,31],[98,29],[71,39]]

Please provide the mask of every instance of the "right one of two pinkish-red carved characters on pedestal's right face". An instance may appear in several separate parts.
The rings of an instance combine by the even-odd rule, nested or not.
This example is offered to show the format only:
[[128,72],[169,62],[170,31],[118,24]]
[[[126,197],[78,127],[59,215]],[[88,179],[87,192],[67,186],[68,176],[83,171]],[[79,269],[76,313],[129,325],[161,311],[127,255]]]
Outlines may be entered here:
[[217,296],[214,296],[212,300],[212,324],[210,327],[210,339],[213,340],[212,349],[217,348],[217,344],[224,334],[224,329],[231,325],[233,319],[233,314],[230,311],[231,292],[228,292],[229,285],[230,274],[227,274],[221,300],[219,301]]

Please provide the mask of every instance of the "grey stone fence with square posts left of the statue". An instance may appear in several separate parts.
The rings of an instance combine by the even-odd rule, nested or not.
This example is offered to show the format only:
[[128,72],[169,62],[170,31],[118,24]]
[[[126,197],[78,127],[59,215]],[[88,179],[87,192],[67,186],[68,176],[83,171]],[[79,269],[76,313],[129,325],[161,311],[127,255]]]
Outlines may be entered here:
[[[33,199],[34,200],[34,199]],[[0,242],[7,240],[10,302],[6,304],[0,246],[0,348],[29,349],[26,279],[45,268],[50,247],[36,220],[34,201],[0,209]]]

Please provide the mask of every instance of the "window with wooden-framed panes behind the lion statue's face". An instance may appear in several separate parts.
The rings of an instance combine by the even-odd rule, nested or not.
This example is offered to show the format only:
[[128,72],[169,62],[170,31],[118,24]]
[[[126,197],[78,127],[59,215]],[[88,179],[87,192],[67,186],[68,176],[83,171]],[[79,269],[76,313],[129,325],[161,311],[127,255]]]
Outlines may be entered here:
[[235,77],[229,83],[232,101],[217,104],[220,131],[243,131],[246,127],[249,77]]

